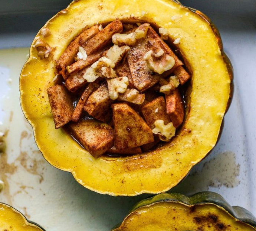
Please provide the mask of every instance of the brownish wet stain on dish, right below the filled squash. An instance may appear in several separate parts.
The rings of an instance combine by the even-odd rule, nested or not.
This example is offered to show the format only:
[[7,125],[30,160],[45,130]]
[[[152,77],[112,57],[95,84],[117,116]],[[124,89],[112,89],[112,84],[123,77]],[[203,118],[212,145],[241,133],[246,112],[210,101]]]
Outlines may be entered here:
[[221,186],[233,188],[240,184],[240,164],[236,163],[236,154],[224,151],[216,154],[205,162],[200,170],[192,170],[191,173],[177,187],[176,191],[207,191],[210,187]]

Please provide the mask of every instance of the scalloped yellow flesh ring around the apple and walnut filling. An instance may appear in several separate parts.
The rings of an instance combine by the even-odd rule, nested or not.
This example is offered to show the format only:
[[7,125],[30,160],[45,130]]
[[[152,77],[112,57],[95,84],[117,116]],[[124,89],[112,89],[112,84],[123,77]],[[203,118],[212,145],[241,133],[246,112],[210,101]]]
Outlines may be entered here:
[[[131,156],[94,158],[65,129],[55,129],[47,89],[56,60],[82,28],[119,19],[164,28],[191,81],[184,121],[170,142]],[[38,32],[20,75],[20,103],[45,159],[102,194],[134,196],[176,186],[213,149],[231,96],[232,69],[220,35],[203,13],[176,0],[76,0]]]

